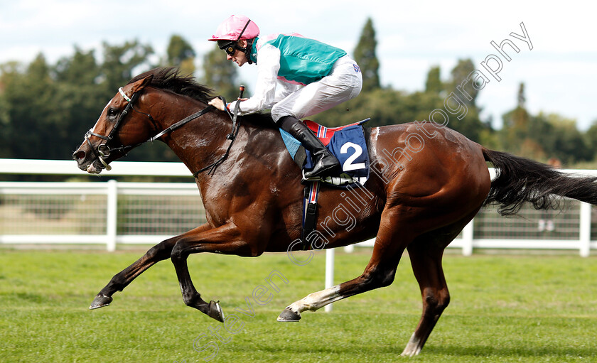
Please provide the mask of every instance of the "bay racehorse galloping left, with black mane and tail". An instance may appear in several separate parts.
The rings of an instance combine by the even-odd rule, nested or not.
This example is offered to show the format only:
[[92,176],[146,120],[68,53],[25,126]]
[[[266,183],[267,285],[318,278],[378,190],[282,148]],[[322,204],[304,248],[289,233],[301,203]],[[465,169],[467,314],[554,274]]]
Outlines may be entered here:
[[[229,115],[208,107],[210,92],[171,68],[134,77],[109,101],[73,153],[79,168],[97,174],[134,146],[163,141],[195,176],[207,217],[205,224],[157,244],[117,273],[90,308],[109,305],[115,292],[170,258],[185,304],[223,321],[220,304],[207,303],[193,286],[189,254],[259,256],[299,249],[301,170],[279,130],[269,114],[253,114],[240,117],[231,132]],[[235,134],[232,147],[229,134]],[[311,237],[311,248],[328,249],[375,237],[370,262],[357,278],[291,303],[280,321],[296,321],[305,310],[389,286],[407,249],[423,313],[402,354],[418,354],[450,300],[443,250],[483,205],[494,203],[502,214],[513,214],[524,202],[553,207],[554,195],[597,202],[596,178],[568,176],[488,150],[439,124],[415,121],[365,129],[365,139],[370,179],[365,187],[351,190],[323,186],[317,233],[307,239]],[[493,181],[485,162],[497,171]]]

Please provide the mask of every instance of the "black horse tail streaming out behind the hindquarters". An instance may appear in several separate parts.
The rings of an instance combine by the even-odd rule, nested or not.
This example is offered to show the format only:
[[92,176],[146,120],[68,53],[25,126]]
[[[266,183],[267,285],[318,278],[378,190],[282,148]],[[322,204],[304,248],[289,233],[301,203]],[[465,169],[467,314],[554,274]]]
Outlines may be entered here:
[[556,195],[597,205],[597,177],[562,173],[552,166],[487,148],[483,148],[483,156],[496,173],[483,205],[499,205],[500,215],[516,214],[525,202],[537,210],[559,209],[561,198]]

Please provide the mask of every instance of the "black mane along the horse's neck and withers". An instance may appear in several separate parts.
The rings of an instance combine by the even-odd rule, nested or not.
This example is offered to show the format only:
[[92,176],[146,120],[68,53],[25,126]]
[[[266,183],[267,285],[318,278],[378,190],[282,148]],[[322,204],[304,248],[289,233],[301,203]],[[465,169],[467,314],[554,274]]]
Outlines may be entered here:
[[[149,86],[151,87],[197,99],[205,104],[210,102],[210,99],[215,97],[213,95],[214,91],[212,89],[201,85],[195,80],[195,77],[191,75],[181,75],[181,72],[176,67],[160,67],[154,68],[153,70],[148,70],[147,72],[141,73],[140,75],[134,77],[129,81],[129,84],[138,80],[142,80],[150,75],[154,76],[149,83]],[[271,119],[271,114],[269,113],[249,114],[244,116],[243,120],[249,121],[249,123],[259,127],[275,127],[274,121]]]

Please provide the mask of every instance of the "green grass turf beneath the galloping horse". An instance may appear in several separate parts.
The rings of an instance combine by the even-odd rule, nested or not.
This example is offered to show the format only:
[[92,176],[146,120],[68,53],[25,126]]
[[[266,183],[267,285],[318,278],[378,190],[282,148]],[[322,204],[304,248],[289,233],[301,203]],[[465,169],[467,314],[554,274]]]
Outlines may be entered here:
[[[141,254],[0,250],[0,362],[205,362],[216,345],[211,362],[597,362],[593,256],[446,255],[451,305],[421,354],[407,358],[399,354],[421,313],[407,255],[392,286],[334,303],[331,313],[305,312],[299,323],[276,317],[323,288],[323,252],[306,266],[286,254],[190,256],[203,298],[240,319],[232,335],[184,305],[169,260],[114,294],[111,306],[88,310]],[[335,282],[360,275],[369,257],[369,249],[338,251]],[[259,305],[252,293],[274,270],[289,283],[274,278],[279,291]],[[254,316],[235,311],[248,309],[245,298]],[[218,327],[225,343],[210,332]]]

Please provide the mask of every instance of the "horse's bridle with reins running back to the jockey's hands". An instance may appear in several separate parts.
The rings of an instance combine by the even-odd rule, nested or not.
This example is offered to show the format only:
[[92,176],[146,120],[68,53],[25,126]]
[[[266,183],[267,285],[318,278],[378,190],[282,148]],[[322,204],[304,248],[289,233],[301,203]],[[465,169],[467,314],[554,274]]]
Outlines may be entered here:
[[[239,98],[242,98],[242,91],[243,90],[244,90],[244,86],[241,86],[241,95],[240,95]],[[135,92],[130,98],[127,96],[127,94],[124,93],[124,90],[122,90],[122,87],[120,87],[118,89],[118,92],[122,95],[122,97],[124,97],[124,99],[128,103],[127,103],[127,106],[124,107],[124,110],[120,114],[120,116],[117,119],[116,124],[114,124],[114,127],[112,128],[112,130],[110,130],[108,136],[96,134],[95,132],[93,132],[93,129],[90,129],[89,131],[87,131],[87,133],[85,133],[85,141],[87,141],[87,145],[91,148],[93,154],[95,155],[95,158],[97,158],[97,160],[99,160],[99,162],[102,163],[102,165],[104,166],[104,168],[106,168],[106,170],[111,170],[112,166],[109,166],[109,164],[104,160],[104,158],[107,158],[108,156],[110,156],[110,154],[113,151],[121,152],[121,153],[124,153],[124,155],[126,155],[133,148],[136,148],[137,146],[140,146],[140,145],[142,145],[142,144],[144,144],[146,142],[149,142],[149,141],[154,142],[155,140],[157,140],[161,136],[169,134],[171,131],[174,131],[174,130],[180,128],[184,124],[187,124],[189,121],[193,121],[194,119],[197,119],[198,117],[201,117],[204,114],[207,114],[208,112],[210,112],[213,109],[215,109],[215,107],[213,107],[212,105],[209,105],[208,107],[205,107],[204,109],[201,109],[200,111],[195,112],[194,114],[191,114],[188,117],[185,117],[184,119],[181,119],[181,121],[178,121],[175,124],[172,124],[171,126],[168,126],[166,129],[164,129],[163,131],[158,132],[158,134],[156,134],[155,136],[150,137],[146,141],[142,141],[140,143],[136,143],[135,145],[129,145],[129,146],[124,146],[123,145],[123,146],[120,146],[118,148],[110,148],[108,146],[108,143],[110,141],[112,141],[112,139],[114,139],[114,135],[117,134],[117,131],[119,131],[119,129],[122,126],[122,123],[124,121],[124,118],[127,117],[127,114],[129,114],[129,112],[134,111],[134,112],[137,112],[139,114],[144,114],[144,115],[146,115],[149,118],[149,121],[151,121],[151,123],[154,124],[154,126],[156,125],[154,117],[152,117],[151,114],[146,114],[144,112],[137,111],[133,107],[134,102],[136,102],[136,100],[139,99],[141,91]],[[226,104],[226,99],[224,97],[221,97],[221,96],[219,96],[219,97],[220,97],[220,99],[222,99],[222,102],[224,102],[224,104]],[[234,116],[230,113],[230,111],[226,107],[225,107],[225,110],[226,110],[227,114],[230,116],[230,118],[232,119],[232,132],[226,136],[226,139],[230,140],[230,145],[228,146],[225,154],[222,157],[220,157],[214,163],[211,163],[210,165],[206,166],[205,168],[201,168],[200,170],[195,171],[195,173],[193,173],[193,177],[196,177],[199,173],[201,173],[201,172],[203,172],[205,170],[208,170],[208,169],[210,169],[210,173],[208,173],[208,174],[212,174],[213,171],[215,170],[215,168],[217,168],[217,166],[219,166],[220,163],[222,163],[225,160],[225,158],[227,158],[228,153],[230,153],[230,148],[232,148],[232,143],[234,143],[234,141],[236,139],[236,136],[238,134],[238,130],[240,129],[240,127],[238,127],[238,125],[237,125],[238,102],[237,102],[237,107],[235,107],[235,114],[234,114]],[[92,145],[92,143],[91,143],[91,141],[90,141],[90,136],[99,137],[99,139],[102,139],[105,142],[99,144],[99,146],[97,146],[97,148],[94,148],[93,145]]]

